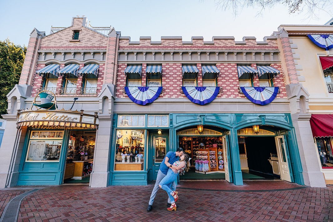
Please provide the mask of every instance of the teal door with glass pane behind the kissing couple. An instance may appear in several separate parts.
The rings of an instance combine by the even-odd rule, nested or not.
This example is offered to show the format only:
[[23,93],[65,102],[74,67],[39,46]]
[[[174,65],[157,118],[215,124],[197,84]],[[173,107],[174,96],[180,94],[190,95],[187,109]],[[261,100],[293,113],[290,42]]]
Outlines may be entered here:
[[169,151],[169,136],[153,136],[152,138],[152,154],[153,154],[153,167],[152,179],[156,180],[157,173],[159,172],[160,164],[163,161],[166,153]]

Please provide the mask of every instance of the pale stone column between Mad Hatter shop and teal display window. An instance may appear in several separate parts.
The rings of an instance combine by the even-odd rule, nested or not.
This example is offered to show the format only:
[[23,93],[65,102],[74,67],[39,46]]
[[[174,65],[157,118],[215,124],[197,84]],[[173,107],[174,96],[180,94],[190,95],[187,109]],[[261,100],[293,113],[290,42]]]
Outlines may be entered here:
[[112,118],[110,114],[99,114],[99,126],[96,135],[91,187],[106,187],[109,181],[110,148],[112,135]]

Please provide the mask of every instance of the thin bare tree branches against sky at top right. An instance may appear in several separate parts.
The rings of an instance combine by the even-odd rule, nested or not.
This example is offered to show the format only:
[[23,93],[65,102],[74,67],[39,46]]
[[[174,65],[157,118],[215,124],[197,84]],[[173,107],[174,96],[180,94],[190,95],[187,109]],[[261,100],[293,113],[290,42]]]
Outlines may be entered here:
[[317,18],[320,11],[332,13],[332,0],[214,0],[216,7],[222,10],[232,9],[237,15],[242,9],[258,8],[258,14],[281,4],[288,7],[289,14],[304,12],[308,17]]

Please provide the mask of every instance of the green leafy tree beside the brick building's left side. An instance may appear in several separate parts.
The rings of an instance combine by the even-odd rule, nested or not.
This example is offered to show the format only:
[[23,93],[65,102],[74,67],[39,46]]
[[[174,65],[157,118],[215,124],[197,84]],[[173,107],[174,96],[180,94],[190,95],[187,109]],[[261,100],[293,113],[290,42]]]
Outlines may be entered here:
[[7,113],[7,94],[18,84],[27,47],[0,41],[0,114]]

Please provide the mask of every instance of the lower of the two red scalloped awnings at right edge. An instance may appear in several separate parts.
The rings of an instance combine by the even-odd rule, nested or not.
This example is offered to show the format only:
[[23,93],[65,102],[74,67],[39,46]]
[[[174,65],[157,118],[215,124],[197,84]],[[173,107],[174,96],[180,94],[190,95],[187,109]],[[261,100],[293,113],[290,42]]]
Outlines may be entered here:
[[333,114],[312,114],[310,125],[313,137],[333,136]]

